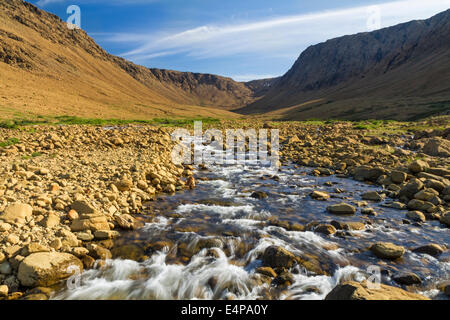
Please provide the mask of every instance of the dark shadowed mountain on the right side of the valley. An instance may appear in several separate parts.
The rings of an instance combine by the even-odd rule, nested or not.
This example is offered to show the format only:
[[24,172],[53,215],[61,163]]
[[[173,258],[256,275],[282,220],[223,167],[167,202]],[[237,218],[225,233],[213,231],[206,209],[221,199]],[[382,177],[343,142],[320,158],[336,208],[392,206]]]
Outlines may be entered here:
[[238,109],[285,120],[413,120],[450,111],[450,10],[306,49],[264,96]]

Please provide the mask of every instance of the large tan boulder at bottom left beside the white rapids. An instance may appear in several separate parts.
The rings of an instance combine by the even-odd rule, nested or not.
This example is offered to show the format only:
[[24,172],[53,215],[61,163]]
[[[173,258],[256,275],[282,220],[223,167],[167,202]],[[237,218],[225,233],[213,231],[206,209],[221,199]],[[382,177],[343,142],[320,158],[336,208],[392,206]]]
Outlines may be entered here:
[[20,263],[17,277],[25,287],[49,287],[70,277],[73,268],[82,271],[83,263],[72,254],[38,252]]

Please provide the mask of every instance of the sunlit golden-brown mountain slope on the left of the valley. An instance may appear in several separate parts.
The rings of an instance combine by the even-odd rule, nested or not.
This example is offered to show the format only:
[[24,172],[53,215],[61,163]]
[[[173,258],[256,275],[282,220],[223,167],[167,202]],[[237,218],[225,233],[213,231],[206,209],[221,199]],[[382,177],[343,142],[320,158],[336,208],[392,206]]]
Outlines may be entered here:
[[235,117],[246,84],[149,69],[108,54],[83,30],[22,0],[0,1],[0,117]]

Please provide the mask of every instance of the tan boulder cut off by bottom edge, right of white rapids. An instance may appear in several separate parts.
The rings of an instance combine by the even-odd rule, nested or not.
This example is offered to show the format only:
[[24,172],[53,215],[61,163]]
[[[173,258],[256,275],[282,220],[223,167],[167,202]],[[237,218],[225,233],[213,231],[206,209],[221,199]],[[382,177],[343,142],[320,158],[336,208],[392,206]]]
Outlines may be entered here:
[[380,284],[370,287],[367,282],[349,281],[336,286],[325,300],[430,300],[420,294]]

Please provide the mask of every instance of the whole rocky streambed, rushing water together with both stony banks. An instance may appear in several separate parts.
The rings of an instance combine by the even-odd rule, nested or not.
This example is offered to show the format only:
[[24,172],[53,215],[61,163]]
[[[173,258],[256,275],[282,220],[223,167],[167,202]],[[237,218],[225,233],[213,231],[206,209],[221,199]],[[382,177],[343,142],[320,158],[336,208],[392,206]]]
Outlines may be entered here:
[[445,138],[287,124],[272,171],[174,166],[168,129],[51,131],[3,150],[7,299],[447,299]]

